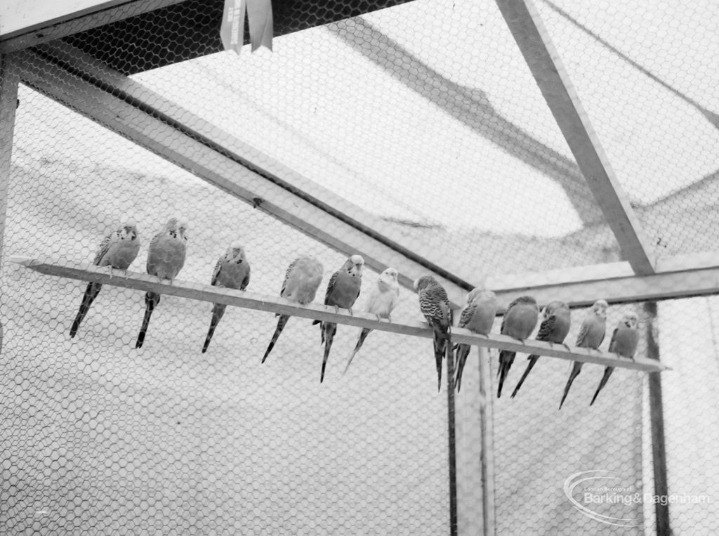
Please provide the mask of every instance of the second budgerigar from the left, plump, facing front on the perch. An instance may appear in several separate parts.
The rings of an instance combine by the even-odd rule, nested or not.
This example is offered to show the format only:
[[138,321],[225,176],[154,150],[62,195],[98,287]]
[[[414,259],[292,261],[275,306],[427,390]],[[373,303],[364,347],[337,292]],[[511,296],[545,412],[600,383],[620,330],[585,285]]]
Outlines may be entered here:
[[[162,227],[162,231],[152,237],[150,247],[147,249],[147,273],[157,278],[169,279],[170,284],[177,277],[185,264],[187,253],[187,224],[178,222],[176,218],[170,218]],[[145,294],[145,318],[142,319],[142,327],[137,334],[135,348],[142,348],[145,341],[147,326],[150,324],[150,316],[157,304],[160,303],[160,294],[147,292]]]

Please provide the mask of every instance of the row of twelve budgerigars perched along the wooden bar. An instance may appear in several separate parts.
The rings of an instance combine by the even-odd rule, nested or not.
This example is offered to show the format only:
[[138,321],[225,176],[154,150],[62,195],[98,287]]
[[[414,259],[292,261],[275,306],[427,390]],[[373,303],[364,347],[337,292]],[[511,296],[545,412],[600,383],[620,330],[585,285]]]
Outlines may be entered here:
[[[157,277],[160,281],[169,280],[170,284],[172,284],[185,264],[187,245],[187,224],[180,222],[177,218],[170,218],[165,226],[162,227],[162,230],[150,240],[150,245],[147,250],[147,273],[150,274],[150,276]],[[98,267],[107,266],[110,271],[110,277],[113,275],[113,270],[124,271],[127,274],[127,269],[137,258],[139,248],[140,240],[137,225],[134,221],[127,220],[116,230],[104,237],[96,252],[93,264]],[[333,306],[335,312],[339,312],[339,309],[347,309],[349,314],[352,315],[352,307],[357,301],[360,290],[362,289],[362,271],[364,265],[365,260],[361,255],[349,256],[339,270],[335,271],[329,279],[324,304]],[[316,258],[310,256],[298,257],[290,263],[285,272],[280,296],[283,299],[293,301],[299,305],[310,304],[316,297],[323,275],[324,267]],[[216,261],[210,284],[225,289],[244,291],[249,284],[249,276],[250,267],[244,247],[242,247],[242,242],[235,241],[232,242],[224,254]],[[380,273],[375,285],[368,293],[364,311],[375,315],[378,321],[385,319],[388,322],[392,322],[392,312],[400,301],[398,276],[399,273],[395,268],[385,269],[385,271]],[[127,278],[127,275],[125,277]],[[454,312],[452,311],[449,297],[441,284],[432,276],[421,276],[414,281],[413,286],[418,295],[420,312],[433,331],[437,389],[438,391],[441,390],[442,361],[444,358],[456,358],[456,374],[449,383],[454,383],[454,386],[457,387],[457,392],[459,392],[462,386],[462,372],[467,363],[471,345],[459,343],[452,348],[452,319]],[[88,283],[80,308],[70,327],[70,337],[77,335],[83,319],[85,319],[91,304],[98,296],[101,288],[101,283]],[[143,342],[145,342],[147,328],[150,324],[150,317],[159,303],[160,294],[152,291],[148,291],[145,294],[145,317],[142,319],[142,327],[137,335],[135,348],[142,348]],[[595,301],[582,322],[580,332],[577,335],[577,342],[575,343],[577,348],[599,350],[605,338],[607,309],[607,301],[603,299]],[[495,293],[481,286],[477,287],[467,294],[467,306],[462,310],[457,327],[477,335],[488,337],[498,310],[499,302]],[[225,304],[213,304],[209,328],[202,346],[202,353],[206,353],[208,350],[215,330],[225,311]],[[539,314],[539,306],[532,296],[521,296],[513,300],[503,313],[500,334],[513,337],[525,343],[539,321]],[[275,328],[269,345],[267,345],[265,355],[262,357],[262,363],[265,363],[265,360],[267,360],[267,357],[272,352],[280,337],[280,333],[282,333],[290,318],[289,314],[278,313],[275,316],[278,317],[277,327]],[[315,320],[312,323],[320,324],[321,342],[322,345],[324,345],[320,373],[320,382],[323,382],[329,353],[334,341],[334,336],[336,335],[337,324],[336,322],[326,320]],[[570,324],[571,314],[569,312],[569,306],[563,301],[551,301],[541,310],[541,324],[539,332],[536,335],[536,340],[549,342],[552,345],[562,344],[567,350],[571,350],[569,346],[564,343],[564,339],[569,333]],[[349,360],[347,360],[347,365],[344,368],[344,373],[347,372],[349,365],[359,352],[359,349],[362,348],[370,332],[372,332],[372,328],[370,327],[363,327],[359,332],[354,350],[352,350]],[[634,313],[624,314],[613,331],[608,351],[622,358],[633,359],[638,345],[638,333],[637,315]],[[454,351],[454,354],[451,354],[452,351]],[[503,385],[508,378],[508,373],[515,356],[516,351],[500,350],[499,352],[498,398],[502,394]],[[537,354],[528,356],[526,370],[518,381],[512,393],[512,398],[516,396],[524,381],[526,381],[529,372],[537,360],[539,360],[539,355]],[[579,376],[582,365],[582,361],[572,363],[572,371],[566,386],[564,386],[562,400],[559,403],[560,409],[567,399],[567,394],[569,394],[572,382]],[[614,367],[611,366],[605,368],[603,378],[599,386],[597,386],[590,406],[594,404],[598,394],[605,387],[613,370]]]

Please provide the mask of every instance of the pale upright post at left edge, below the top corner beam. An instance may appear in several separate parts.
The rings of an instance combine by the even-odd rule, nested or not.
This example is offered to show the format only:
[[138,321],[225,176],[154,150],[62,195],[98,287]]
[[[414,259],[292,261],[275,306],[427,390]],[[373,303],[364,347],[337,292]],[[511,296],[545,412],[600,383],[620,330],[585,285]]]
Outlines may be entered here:
[[7,194],[10,184],[12,137],[15,127],[15,109],[17,108],[17,82],[17,71],[12,67],[12,57],[0,54],[0,259],[2,258]]

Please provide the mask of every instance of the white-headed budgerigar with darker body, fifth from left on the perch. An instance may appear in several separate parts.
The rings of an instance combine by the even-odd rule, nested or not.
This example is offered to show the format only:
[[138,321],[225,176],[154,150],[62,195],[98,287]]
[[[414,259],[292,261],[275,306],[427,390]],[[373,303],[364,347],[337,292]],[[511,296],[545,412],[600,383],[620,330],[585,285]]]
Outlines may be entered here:
[[[327,292],[324,295],[324,304],[334,306],[335,311],[339,308],[349,309],[352,314],[352,306],[359,296],[359,289],[362,286],[362,267],[365,265],[365,259],[362,255],[352,255],[347,258],[338,271],[332,274],[327,284]],[[334,334],[337,331],[337,324],[333,322],[320,322],[315,320],[312,324],[320,324],[322,344],[324,344],[324,358],[322,360],[322,371],[319,376],[319,382],[324,381],[324,369],[329,358],[329,350],[332,348]]]

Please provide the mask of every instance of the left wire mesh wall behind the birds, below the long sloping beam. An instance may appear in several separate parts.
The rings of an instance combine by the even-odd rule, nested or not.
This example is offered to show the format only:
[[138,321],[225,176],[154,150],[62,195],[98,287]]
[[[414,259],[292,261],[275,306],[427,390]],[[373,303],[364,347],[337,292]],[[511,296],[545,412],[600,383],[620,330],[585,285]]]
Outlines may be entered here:
[[[3,532],[446,532],[446,396],[431,342],[340,326],[324,383],[317,326],[162,296],[141,349],[143,293],[104,286],[74,338],[86,284],[11,255],[89,262],[128,215],[150,237],[188,222],[178,280],[209,283],[234,240],[248,291],[278,294],[290,261],[344,255],[202,183],[27,87],[20,91],[3,253]],[[122,278],[116,271],[115,277]],[[377,274],[365,271],[362,309]],[[395,313],[417,317],[403,291]]]

